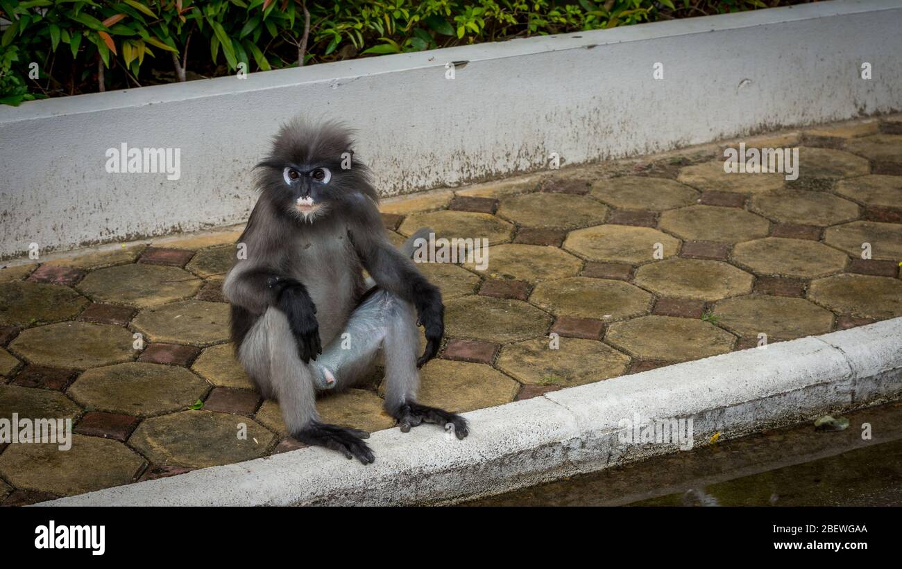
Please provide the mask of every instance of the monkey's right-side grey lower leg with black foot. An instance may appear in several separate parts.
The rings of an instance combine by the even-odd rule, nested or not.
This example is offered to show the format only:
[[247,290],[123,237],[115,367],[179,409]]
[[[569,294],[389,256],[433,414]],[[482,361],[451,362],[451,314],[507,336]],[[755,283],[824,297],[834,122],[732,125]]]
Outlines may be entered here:
[[416,401],[419,389],[417,312],[413,304],[397,296],[389,294],[388,298],[391,308],[385,312],[387,330],[382,342],[385,410],[398,420],[402,432],[406,433],[420,423],[436,423],[446,430],[453,430],[457,438],[465,438],[469,430],[463,417]]

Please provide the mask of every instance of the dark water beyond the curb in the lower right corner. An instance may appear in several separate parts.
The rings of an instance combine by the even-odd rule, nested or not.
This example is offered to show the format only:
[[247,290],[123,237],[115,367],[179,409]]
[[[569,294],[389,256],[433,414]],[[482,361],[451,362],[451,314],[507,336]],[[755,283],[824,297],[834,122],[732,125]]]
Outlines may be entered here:
[[466,505],[902,505],[902,402],[843,416],[838,432],[805,423]]

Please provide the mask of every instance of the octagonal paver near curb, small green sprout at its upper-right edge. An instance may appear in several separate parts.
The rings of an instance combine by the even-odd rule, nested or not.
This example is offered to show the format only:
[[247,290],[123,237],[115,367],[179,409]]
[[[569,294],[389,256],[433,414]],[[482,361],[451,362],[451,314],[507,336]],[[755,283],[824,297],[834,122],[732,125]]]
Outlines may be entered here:
[[700,320],[643,316],[611,325],[604,339],[635,357],[682,362],[732,349],[732,334]]

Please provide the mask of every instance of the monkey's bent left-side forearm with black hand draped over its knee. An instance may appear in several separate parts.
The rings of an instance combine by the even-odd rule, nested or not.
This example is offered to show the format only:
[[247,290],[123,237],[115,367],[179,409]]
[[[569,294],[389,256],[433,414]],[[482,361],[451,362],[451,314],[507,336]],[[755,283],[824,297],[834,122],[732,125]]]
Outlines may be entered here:
[[226,276],[223,285],[226,300],[258,315],[271,306],[280,310],[288,318],[298,342],[299,357],[305,364],[316,359],[323,349],[319,340],[317,307],[307,287],[269,268],[244,268],[242,262],[239,261]]

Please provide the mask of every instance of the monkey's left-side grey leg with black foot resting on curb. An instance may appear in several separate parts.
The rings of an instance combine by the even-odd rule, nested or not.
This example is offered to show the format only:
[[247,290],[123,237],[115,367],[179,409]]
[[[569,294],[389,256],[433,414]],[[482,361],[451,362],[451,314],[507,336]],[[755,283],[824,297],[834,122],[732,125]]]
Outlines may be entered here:
[[308,445],[337,450],[364,465],[373,462],[373,451],[363,440],[369,433],[319,421],[314,380],[298,355],[284,312],[268,309],[247,333],[238,357],[262,393],[279,402],[292,437]]

